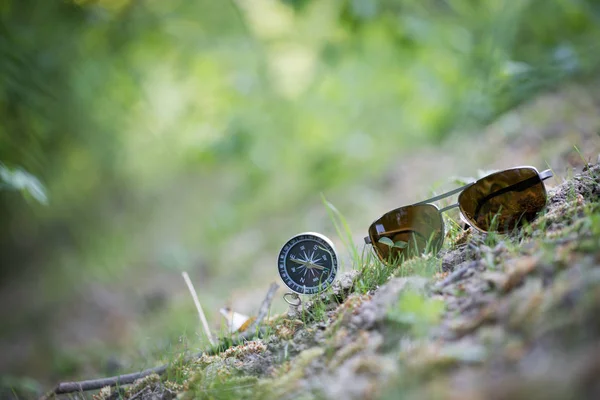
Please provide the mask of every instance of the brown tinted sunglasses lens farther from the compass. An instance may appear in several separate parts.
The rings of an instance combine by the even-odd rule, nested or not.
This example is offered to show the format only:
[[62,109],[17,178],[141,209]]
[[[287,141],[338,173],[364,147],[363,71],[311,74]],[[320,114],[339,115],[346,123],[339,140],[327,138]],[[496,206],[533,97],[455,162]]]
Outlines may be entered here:
[[465,218],[483,231],[510,232],[546,205],[546,188],[533,168],[496,172],[458,196]]

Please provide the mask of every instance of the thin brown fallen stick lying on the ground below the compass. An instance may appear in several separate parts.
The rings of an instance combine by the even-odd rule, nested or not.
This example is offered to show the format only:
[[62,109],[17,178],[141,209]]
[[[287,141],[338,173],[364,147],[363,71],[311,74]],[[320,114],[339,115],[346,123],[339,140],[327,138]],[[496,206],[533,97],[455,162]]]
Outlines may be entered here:
[[[279,289],[279,285],[276,283],[272,283],[269,287],[269,291],[265,296],[265,299],[260,305],[258,309],[258,314],[256,316],[256,320],[248,327],[248,329],[237,336],[233,340],[234,345],[240,343],[242,341],[248,340],[257,334],[259,331],[259,326],[262,321],[265,319],[267,314],[269,313],[269,308],[271,308],[271,303],[273,302],[273,296],[275,296],[275,292]],[[194,360],[198,357],[201,357],[204,353],[215,354],[218,353],[219,349],[211,349],[209,351],[201,351],[192,356],[186,357],[186,361]],[[159,367],[145,369],[140,372],[134,372],[131,374],[118,375],[110,378],[100,378],[100,379],[90,379],[87,381],[79,381],[79,382],[62,382],[59,383],[54,390],[48,392],[46,395],[42,396],[40,400],[51,399],[59,394],[66,393],[74,393],[74,392],[86,392],[89,390],[98,390],[102,389],[105,386],[117,386],[117,385],[128,385],[136,380],[148,376],[150,374],[162,375],[165,373],[169,364],[161,365]]]

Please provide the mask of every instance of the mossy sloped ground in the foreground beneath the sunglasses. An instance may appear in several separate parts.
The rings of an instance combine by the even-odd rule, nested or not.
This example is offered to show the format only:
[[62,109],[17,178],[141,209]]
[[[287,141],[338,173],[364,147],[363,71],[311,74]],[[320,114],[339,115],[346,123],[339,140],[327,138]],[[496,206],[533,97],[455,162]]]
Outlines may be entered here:
[[262,339],[99,397],[600,398],[600,165],[548,198],[518,235],[452,232],[395,270],[366,259]]

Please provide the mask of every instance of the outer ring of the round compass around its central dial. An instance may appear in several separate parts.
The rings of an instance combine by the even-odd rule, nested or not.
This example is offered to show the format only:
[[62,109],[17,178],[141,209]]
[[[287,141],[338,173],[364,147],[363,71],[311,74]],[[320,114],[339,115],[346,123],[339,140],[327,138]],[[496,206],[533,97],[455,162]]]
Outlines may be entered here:
[[[300,286],[294,279],[292,279],[288,272],[288,268],[290,268],[288,264],[290,262],[289,252],[298,242],[301,241],[313,243],[316,242],[316,244],[326,246],[327,252],[330,253],[331,270],[329,271],[329,275],[327,276],[327,279],[319,282],[316,286]],[[338,255],[335,250],[335,245],[327,236],[317,232],[303,232],[294,235],[285,242],[285,244],[279,251],[279,256],[277,257],[277,271],[279,272],[279,278],[281,279],[283,284],[292,292],[298,294],[320,293],[329,288],[337,276]],[[286,281],[286,277],[289,279],[289,283],[288,281]]]

